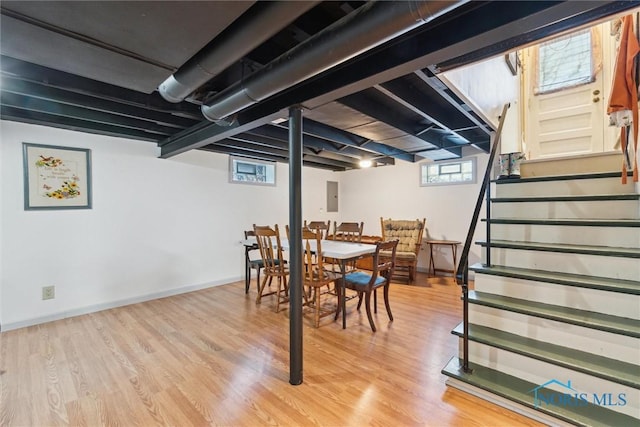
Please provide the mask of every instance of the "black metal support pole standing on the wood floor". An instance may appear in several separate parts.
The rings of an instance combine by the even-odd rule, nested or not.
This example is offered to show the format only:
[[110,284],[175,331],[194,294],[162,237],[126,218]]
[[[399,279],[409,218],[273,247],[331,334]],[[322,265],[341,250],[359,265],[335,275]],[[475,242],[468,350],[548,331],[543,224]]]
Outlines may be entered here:
[[302,384],[302,107],[289,108],[289,383]]

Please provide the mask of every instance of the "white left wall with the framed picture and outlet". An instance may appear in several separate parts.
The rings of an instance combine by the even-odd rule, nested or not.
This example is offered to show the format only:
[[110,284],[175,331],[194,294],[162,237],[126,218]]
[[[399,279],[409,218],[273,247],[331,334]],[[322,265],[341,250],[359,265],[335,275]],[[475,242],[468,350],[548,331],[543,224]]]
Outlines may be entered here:
[[[230,184],[226,155],[163,160],[153,143],[1,123],[3,330],[240,280],[242,231],[288,222],[286,164],[275,187]],[[93,209],[25,211],[22,142],[91,149]],[[303,174],[303,214],[319,212],[339,175]]]

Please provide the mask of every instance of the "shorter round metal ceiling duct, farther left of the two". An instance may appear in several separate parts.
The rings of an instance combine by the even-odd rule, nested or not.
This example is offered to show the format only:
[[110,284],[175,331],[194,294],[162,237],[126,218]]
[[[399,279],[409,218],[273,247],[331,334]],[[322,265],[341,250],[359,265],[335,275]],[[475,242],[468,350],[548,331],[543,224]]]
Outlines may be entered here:
[[[158,87],[169,102],[181,102],[200,86],[268,40],[319,1],[258,2]],[[274,25],[277,23],[277,25]]]

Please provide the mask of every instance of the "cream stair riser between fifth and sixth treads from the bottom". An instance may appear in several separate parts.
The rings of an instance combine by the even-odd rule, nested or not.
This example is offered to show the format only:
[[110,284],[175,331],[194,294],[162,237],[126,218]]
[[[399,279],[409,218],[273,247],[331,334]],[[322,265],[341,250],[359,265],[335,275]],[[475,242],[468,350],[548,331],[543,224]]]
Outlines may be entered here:
[[640,247],[640,227],[493,224],[491,238],[515,242],[638,248]]

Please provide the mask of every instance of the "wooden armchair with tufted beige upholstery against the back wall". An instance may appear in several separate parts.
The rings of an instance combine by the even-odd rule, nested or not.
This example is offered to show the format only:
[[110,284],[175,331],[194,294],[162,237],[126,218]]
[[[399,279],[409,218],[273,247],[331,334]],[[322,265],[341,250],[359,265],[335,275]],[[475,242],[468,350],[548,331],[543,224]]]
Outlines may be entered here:
[[[405,279],[409,283],[414,281],[425,223],[426,218],[422,221],[380,218],[382,240],[398,240],[394,279]],[[381,256],[384,255],[384,252],[381,253]]]

